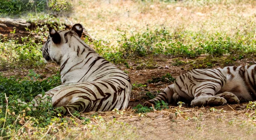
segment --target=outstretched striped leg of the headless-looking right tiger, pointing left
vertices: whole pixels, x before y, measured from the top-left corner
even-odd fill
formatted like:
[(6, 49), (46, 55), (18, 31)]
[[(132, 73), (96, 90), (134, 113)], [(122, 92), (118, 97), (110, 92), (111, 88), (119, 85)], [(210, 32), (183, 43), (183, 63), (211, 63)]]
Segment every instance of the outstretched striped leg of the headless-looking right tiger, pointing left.
[(143, 106), (151, 107), (154, 106), (155, 102), (163, 100), (165, 103), (173, 103), (179, 98), (179, 95), (176, 93), (175, 84), (168, 86), (160, 94), (157, 95), (154, 99), (146, 101)]

